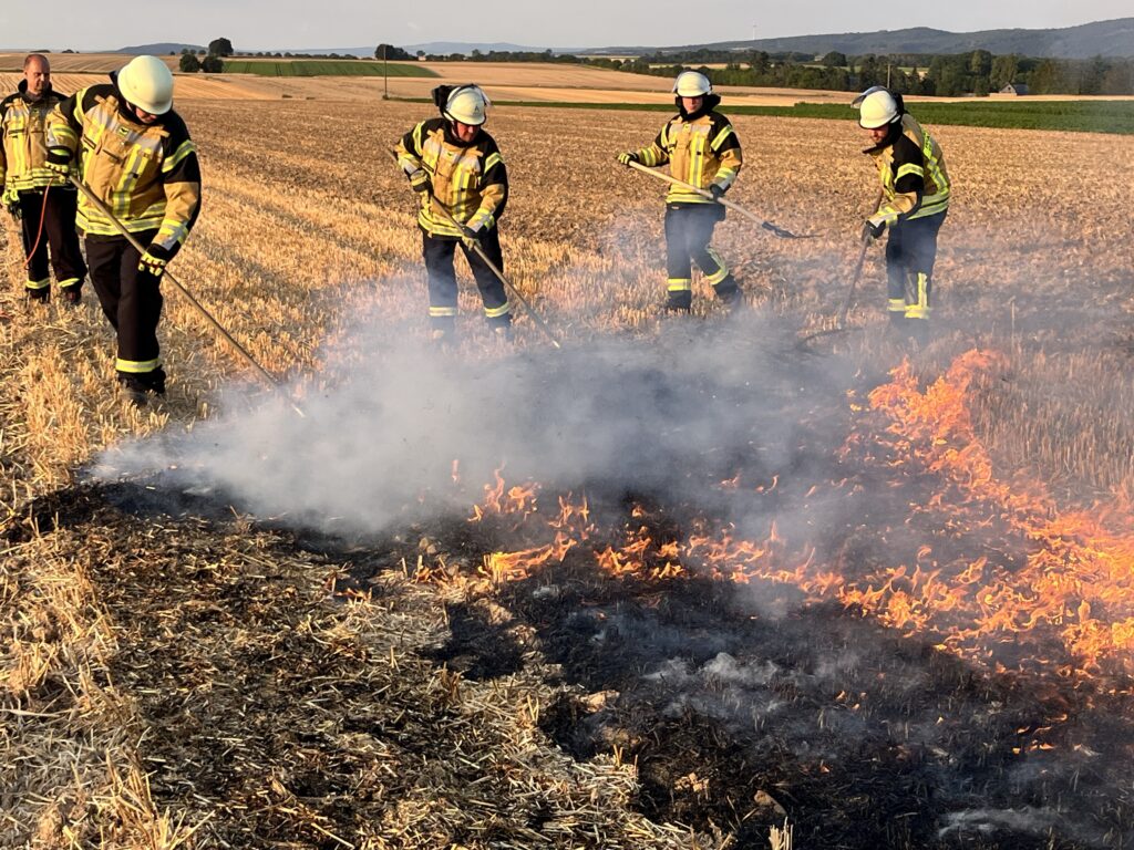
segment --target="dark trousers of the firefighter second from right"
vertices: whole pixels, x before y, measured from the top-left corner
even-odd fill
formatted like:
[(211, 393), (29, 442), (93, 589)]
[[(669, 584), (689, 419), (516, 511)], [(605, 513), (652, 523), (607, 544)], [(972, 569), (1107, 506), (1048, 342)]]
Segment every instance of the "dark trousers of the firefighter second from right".
[(669, 204), (666, 207), (666, 306), (688, 309), (693, 304), (693, 263), (697, 264), (725, 303), (739, 294), (720, 255), (712, 249), (713, 228), (725, 218), (720, 204)]

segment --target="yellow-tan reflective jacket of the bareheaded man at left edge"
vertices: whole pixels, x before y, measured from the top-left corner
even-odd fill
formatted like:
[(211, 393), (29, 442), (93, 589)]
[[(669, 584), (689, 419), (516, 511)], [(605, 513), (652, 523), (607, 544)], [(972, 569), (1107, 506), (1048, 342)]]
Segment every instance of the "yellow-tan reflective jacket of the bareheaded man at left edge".
[[(33, 192), (59, 178), (43, 167), (46, 161), (44, 129), (51, 110), (64, 95), (45, 86), (39, 100), (27, 96), (27, 80), (0, 102), (0, 186)], [(68, 187), (70, 188), (70, 187)]]

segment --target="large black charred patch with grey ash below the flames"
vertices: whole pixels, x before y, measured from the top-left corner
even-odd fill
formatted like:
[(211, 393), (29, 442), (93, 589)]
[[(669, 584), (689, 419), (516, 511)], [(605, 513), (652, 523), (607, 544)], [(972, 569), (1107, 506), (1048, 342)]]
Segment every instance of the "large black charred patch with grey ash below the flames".
[[(863, 850), (1132, 834), (1114, 794), (1134, 730), (1099, 695), (989, 674), (838, 606), (765, 619), (719, 584), (569, 561), (499, 601), (570, 686), (544, 731), (577, 759), (634, 762), (651, 819), (727, 825), (742, 847), (785, 817), (809, 845)], [(1038, 816), (995, 814), (1013, 810)]]

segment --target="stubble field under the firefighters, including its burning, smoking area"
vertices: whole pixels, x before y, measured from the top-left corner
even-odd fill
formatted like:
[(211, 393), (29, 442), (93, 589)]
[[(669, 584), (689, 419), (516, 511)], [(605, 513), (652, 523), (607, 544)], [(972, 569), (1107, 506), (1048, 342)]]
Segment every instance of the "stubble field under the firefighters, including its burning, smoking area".
[[(659, 316), (661, 116), (498, 108), (490, 339), (428, 341), (422, 104), (186, 101), (170, 380), (0, 295), (0, 845), (1134, 845), (1134, 139), (933, 128), (934, 334), (886, 332), (852, 121), (739, 118)], [(726, 110), (727, 111), (727, 110)], [(329, 131), (342, 127), (341, 133)]]

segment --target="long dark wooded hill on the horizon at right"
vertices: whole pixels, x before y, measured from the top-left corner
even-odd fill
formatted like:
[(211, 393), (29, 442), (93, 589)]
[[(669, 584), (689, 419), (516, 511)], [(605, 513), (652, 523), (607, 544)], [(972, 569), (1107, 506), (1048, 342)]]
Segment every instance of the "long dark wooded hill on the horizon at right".
[(763, 50), (769, 53), (797, 52), (822, 56), (838, 51), (847, 56), (868, 53), (966, 53), (987, 50), (990, 53), (1019, 53), (1051, 59), (1090, 59), (1134, 57), (1134, 18), (1098, 20), (1061, 29), (982, 29), (975, 33), (950, 33), (945, 29), (914, 27), (881, 29), (875, 33), (838, 33), (828, 35), (794, 35), (784, 39), (725, 41), (712, 44), (687, 44), (679, 48), (602, 48), (587, 53), (606, 56), (641, 56), (643, 53), (708, 50)]

